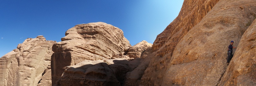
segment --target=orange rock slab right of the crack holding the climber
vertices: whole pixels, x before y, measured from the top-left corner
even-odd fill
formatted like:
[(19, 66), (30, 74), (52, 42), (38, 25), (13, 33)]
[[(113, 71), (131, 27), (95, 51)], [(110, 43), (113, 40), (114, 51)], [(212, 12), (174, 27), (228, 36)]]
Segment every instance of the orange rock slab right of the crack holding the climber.
[(256, 85), (256, 20), (243, 34), (235, 56), (224, 73), (220, 86), (255, 86)]

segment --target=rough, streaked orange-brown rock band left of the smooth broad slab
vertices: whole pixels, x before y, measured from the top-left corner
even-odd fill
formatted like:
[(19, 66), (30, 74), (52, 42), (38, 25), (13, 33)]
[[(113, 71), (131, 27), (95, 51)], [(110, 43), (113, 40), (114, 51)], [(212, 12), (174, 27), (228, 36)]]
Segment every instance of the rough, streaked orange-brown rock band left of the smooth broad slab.
[[(160, 33), (152, 45), (156, 55), (151, 59), (141, 78), (143, 85), (161, 85), (169, 68), (170, 59), (176, 45), (197, 25), (219, 0), (184, 0), (176, 19)], [(153, 70), (153, 71), (152, 71)]]

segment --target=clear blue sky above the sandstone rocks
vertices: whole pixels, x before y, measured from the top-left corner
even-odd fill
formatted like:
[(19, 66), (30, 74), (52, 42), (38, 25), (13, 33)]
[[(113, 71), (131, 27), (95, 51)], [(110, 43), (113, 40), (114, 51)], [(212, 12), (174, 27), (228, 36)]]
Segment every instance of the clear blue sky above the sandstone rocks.
[(183, 0), (0, 0), (0, 57), (27, 38), (60, 42), (77, 24), (120, 28), (133, 46), (158, 34), (178, 16)]

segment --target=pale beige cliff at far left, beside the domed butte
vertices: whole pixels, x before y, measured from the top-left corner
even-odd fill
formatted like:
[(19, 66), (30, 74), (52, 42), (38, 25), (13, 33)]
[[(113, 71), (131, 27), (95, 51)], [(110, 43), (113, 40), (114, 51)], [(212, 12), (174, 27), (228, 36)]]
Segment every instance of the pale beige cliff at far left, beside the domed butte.
[(0, 58), (0, 85), (51, 85), (51, 55), (54, 41), (43, 36), (27, 38), (17, 49)]

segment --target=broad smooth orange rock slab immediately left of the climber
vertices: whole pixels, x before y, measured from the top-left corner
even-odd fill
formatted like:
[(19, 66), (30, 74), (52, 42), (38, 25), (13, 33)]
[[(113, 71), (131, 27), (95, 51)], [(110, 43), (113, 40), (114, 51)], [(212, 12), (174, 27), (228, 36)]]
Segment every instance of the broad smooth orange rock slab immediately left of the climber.
[(255, 3), (221, 0), (215, 4), (176, 45), (161, 85), (218, 85), (227, 68), (228, 45), (233, 40), (237, 46), (255, 19)]

